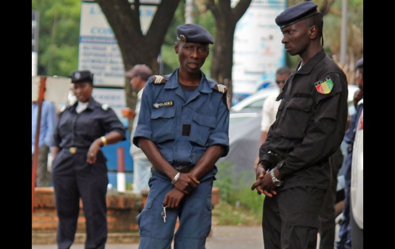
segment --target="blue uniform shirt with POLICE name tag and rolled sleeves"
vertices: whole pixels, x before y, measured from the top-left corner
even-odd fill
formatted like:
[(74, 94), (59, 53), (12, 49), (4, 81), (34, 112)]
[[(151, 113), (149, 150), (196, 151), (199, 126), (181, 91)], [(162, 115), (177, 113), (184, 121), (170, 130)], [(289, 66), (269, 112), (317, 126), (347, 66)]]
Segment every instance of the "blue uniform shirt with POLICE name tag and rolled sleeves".
[(229, 110), (223, 95), (213, 90), (215, 82), (202, 78), (188, 100), (179, 84), (178, 69), (166, 75), (166, 83), (148, 80), (142, 97), (140, 117), (133, 137), (152, 140), (172, 165), (194, 165), (208, 147), (221, 144), (223, 157), (229, 151)]

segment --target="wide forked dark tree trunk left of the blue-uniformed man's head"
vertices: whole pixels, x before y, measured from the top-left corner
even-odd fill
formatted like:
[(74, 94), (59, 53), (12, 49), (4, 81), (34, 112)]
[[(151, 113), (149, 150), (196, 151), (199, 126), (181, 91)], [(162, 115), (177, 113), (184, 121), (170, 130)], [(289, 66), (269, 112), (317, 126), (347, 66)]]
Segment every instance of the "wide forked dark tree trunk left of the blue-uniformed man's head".
[[(156, 9), (151, 25), (143, 35), (140, 24), (140, 0), (97, 0), (111, 26), (121, 51), (125, 71), (136, 64), (146, 64), (154, 74), (159, 73), (157, 57), (167, 29), (180, 0), (162, 1)], [(135, 106), (135, 96), (129, 82), (125, 82), (126, 105)], [(131, 123), (131, 122), (129, 122)], [(131, 124), (129, 124), (131, 127)]]

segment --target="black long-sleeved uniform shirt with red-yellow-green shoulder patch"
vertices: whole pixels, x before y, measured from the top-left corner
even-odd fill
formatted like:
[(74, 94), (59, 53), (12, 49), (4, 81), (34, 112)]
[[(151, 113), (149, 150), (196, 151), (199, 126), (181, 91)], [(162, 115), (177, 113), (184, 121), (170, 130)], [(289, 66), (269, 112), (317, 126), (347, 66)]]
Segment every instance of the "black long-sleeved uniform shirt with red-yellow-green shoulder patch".
[[(268, 168), (278, 166), (284, 180), (281, 189), (327, 188), (328, 158), (340, 146), (345, 133), (347, 79), (324, 49), (298, 71), (299, 67), (300, 63), (277, 98), (282, 102), (260, 148), (260, 162)], [(324, 88), (317, 88), (320, 83)], [(282, 157), (273, 156), (276, 154)]]

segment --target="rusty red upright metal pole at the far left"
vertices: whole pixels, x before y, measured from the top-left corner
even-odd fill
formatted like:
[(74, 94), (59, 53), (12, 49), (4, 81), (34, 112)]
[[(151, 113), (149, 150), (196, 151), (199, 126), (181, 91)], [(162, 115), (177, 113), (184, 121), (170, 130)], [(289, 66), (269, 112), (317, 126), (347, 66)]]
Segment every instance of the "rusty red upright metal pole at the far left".
[(34, 187), (36, 179), (37, 161), (38, 161), (38, 140), (40, 137), (40, 125), (41, 125), (41, 107), (43, 106), (44, 91), (45, 91), (45, 81), (47, 78), (45, 76), (40, 77), (40, 86), (38, 91), (38, 111), (37, 111), (37, 125), (36, 125), (36, 135), (34, 139), (34, 155), (33, 155), (33, 165), (31, 173), (31, 212), (33, 214), (34, 206)]

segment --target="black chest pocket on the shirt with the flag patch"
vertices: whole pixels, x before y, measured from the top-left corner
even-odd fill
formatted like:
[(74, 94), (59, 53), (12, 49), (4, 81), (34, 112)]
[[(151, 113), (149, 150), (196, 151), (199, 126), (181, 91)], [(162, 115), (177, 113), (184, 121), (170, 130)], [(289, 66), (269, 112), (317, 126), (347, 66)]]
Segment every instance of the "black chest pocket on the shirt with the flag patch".
[(290, 139), (304, 138), (312, 104), (313, 100), (310, 98), (292, 98), (281, 103), (280, 107), (284, 110), (279, 125), (282, 127), (283, 136)]

